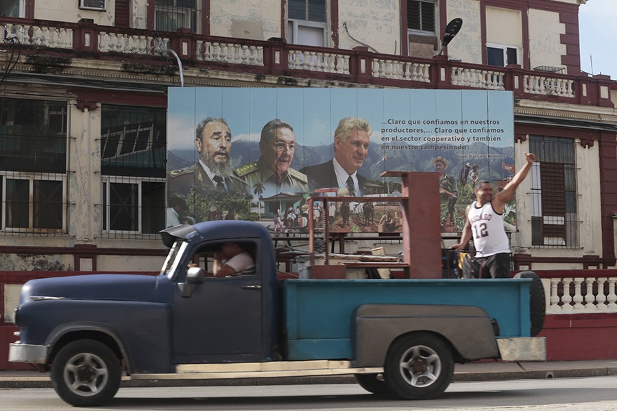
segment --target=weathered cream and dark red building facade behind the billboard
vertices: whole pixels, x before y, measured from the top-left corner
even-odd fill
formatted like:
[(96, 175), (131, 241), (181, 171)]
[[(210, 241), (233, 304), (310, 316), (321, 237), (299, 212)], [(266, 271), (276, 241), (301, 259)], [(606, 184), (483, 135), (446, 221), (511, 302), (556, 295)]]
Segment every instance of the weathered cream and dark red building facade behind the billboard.
[(515, 269), (614, 268), (617, 84), (581, 72), (584, 3), (5, 1), (0, 272), (160, 269), (170, 86), (510, 90), (516, 164), (538, 155)]

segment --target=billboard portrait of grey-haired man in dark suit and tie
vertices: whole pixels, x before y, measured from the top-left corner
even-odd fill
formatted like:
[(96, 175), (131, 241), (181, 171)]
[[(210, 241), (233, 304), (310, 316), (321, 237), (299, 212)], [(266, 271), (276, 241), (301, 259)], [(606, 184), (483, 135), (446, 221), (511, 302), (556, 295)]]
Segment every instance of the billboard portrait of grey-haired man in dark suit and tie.
[(309, 190), (317, 188), (347, 188), (349, 195), (364, 194), (368, 179), (358, 173), (368, 154), (369, 139), (373, 130), (365, 119), (345, 117), (335, 130), (332, 160), (304, 167), (300, 173), (309, 178)]

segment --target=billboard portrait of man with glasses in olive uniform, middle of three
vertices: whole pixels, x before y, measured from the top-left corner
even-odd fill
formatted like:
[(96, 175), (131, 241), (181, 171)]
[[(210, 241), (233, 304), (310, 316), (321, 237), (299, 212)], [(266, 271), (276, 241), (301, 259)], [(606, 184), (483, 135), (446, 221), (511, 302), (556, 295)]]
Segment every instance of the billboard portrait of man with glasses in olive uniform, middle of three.
[(261, 130), (261, 157), (256, 162), (238, 167), (235, 173), (244, 180), (250, 191), (256, 184), (263, 184), (264, 197), (279, 192), (308, 192), (306, 175), (290, 166), (295, 147), (293, 127), (279, 119), (269, 121)]

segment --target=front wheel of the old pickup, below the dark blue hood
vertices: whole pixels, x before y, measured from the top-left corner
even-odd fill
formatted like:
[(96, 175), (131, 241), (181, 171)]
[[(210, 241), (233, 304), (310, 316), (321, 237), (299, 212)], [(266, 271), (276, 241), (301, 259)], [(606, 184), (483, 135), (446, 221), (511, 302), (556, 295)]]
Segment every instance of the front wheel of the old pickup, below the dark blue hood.
[(53, 389), (71, 406), (104, 405), (117, 393), (120, 381), (120, 360), (95, 340), (73, 341), (60, 349), (51, 364)]

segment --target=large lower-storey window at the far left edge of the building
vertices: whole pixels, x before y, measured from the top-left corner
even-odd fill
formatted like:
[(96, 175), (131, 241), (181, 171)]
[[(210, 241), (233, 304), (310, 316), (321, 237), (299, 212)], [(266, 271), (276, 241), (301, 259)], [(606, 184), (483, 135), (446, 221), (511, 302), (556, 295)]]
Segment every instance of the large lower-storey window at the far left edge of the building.
[(66, 102), (5, 99), (0, 112), (0, 227), (66, 232)]

